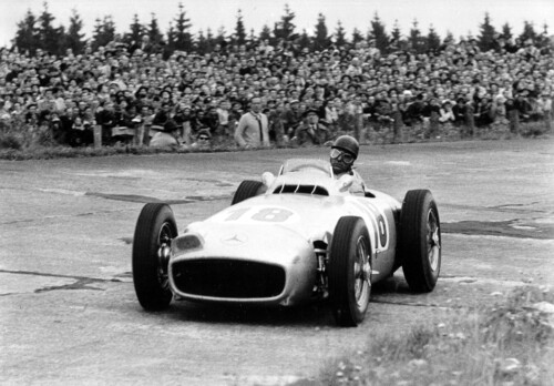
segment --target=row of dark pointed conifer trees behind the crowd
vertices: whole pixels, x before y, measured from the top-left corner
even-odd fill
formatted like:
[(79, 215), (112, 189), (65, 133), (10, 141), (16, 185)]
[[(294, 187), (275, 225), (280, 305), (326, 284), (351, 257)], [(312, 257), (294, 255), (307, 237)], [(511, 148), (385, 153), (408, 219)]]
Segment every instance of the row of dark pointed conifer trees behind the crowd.
[[(19, 52), (27, 52), (31, 55), (38, 49), (57, 55), (64, 54), (71, 49), (73, 53), (79, 54), (88, 45), (92, 50), (105, 47), (112, 41), (132, 45), (138, 43), (143, 35), (148, 35), (150, 42), (166, 55), (176, 50), (195, 51), (203, 54), (212, 52), (216, 45), (257, 44), (260, 41), (268, 41), (271, 45), (276, 45), (278, 42), (294, 43), (300, 50), (308, 48), (319, 51), (331, 45), (340, 48), (367, 41), (375, 43), (375, 47), (383, 53), (397, 50), (422, 53), (439, 50), (443, 44), (454, 41), (451, 32), (448, 32), (442, 38), (437, 33), (433, 26), (430, 26), (425, 32), (421, 31), (417, 20), (413, 20), (406, 35), (400, 30), (398, 20), (394, 21), (392, 30), (389, 32), (377, 12), (370, 20), (366, 33), (358, 28), (348, 33), (340, 21), (338, 21), (335, 30), (330, 31), (322, 13), (318, 14), (314, 30), (310, 33), (305, 29), (297, 31), (295, 17), (296, 14), (290, 7), (285, 4), (284, 14), (274, 23), (273, 28), (265, 24), (261, 31), (256, 33), (254, 29), (247, 31), (242, 11), (238, 10), (235, 28), (232, 32), (227, 32), (224, 27), (220, 27), (217, 31), (208, 28), (205, 31), (199, 30), (197, 33), (192, 33), (192, 21), (187, 18), (184, 6), (179, 3), (178, 10), (165, 32), (162, 31), (155, 13), (151, 13), (151, 20), (147, 23), (141, 22), (135, 13), (132, 23), (124, 32), (119, 32), (113, 18), (105, 16), (95, 20), (92, 37), (85, 39), (83, 19), (76, 10), (72, 10), (68, 27), (63, 24), (54, 26), (55, 17), (50, 12), (48, 2), (44, 2), (40, 14), (35, 16), (29, 9), (24, 18), (17, 23), (12, 47), (18, 49)], [(542, 26), (542, 31), (537, 32), (532, 22), (525, 21), (523, 32), (520, 35), (514, 35), (509, 23), (496, 30), (489, 13), (484, 14), (484, 20), (479, 26), (479, 34), (464, 38), (475, 39), (482, 51), (489, 51), (494, 49), (495, 41), (500, 37), (506, 40), (520, 39), (521, 41), (531, 39), (537, 47), (545, 47), (550, 42), (546, 24)]]

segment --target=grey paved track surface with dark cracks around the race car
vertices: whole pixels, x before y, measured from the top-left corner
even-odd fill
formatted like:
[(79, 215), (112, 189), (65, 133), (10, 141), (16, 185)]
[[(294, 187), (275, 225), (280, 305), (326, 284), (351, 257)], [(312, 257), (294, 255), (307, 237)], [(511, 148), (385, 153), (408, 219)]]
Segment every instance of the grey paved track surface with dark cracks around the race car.
[(229, 205), (240, 181), (327, 149), (0, 162), (0, 384), (285, 385), (389, 332), (554, 283), (554, 141), (362, 146), (368, 185), (402, 200), (430, 189), (442, 222), (434, 292), (401, 271), (366, 321), (338, 328), (327, 305), (242, 309), (173, 303), (146, 313), (131, 277), (145, 202), (179, 230)]

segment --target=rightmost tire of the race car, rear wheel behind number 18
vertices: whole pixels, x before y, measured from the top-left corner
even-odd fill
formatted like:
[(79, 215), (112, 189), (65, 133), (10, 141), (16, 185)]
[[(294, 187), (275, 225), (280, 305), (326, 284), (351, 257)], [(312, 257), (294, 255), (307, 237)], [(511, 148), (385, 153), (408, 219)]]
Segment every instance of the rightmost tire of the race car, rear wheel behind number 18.
[(433, 291), (441, 270), (442, 244), (439, 211), (430, 191), (406, 193), (398, 251), (410, 290)]

